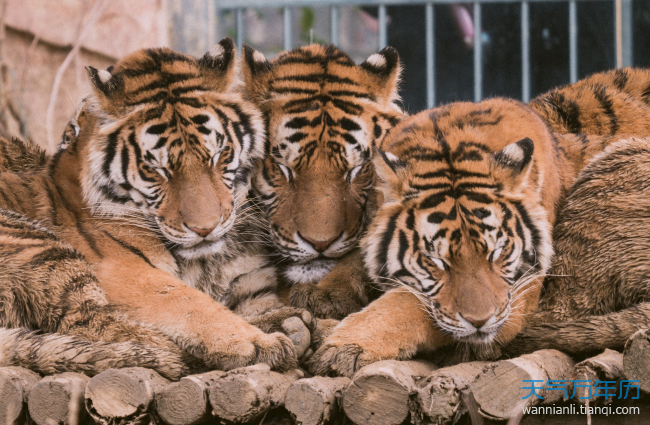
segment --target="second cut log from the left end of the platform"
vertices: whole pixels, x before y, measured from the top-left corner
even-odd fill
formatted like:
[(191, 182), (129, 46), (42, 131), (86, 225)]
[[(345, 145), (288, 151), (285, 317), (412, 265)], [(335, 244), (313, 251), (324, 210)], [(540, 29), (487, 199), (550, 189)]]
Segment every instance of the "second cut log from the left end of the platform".
[(66, 372), (46, 376), (29, 393), (29, 415), (38, 425), (80, 424), (88, 419), (84, 405), (90, 378)]

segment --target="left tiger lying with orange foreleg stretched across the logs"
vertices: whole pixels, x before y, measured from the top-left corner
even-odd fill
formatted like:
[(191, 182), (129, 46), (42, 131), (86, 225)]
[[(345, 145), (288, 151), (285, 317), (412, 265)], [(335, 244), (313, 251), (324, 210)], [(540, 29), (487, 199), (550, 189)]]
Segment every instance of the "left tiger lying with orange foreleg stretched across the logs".
[[(200, 59), (158, 48), (87, 67), (93, 92), (50, 163), (0, 174), (0, 252), (12, 260), (0, 269), (0, 364), (129, 364), (175, 378), (197, 361), (297, 365), (287, 336), (244, 318), (282, 304), (248, 196), (264, 123), (235, 63), (225, 38)], [(52, 268), (68, 257), (69, 272)], [(16, 280), (31, 267), (33, 286)]]

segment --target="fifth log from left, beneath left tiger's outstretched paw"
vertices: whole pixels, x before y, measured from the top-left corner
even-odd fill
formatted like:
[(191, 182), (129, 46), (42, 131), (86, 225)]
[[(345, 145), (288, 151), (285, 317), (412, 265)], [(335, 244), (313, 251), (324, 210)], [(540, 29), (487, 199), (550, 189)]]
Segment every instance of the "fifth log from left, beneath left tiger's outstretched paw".
[(300, 369), (282, 374), (265, 364), (233, 369), (210, 385), (210, 405), (221, 419), (250, 422), (283, 406), (287, 390), (303, 376)]

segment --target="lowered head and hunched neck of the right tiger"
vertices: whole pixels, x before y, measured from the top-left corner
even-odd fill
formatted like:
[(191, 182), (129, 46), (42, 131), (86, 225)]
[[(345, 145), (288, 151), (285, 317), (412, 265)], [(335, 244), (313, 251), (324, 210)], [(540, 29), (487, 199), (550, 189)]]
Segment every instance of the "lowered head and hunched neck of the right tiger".
[(546, 124), (512, 100), (454, 103), (402, 121), (381, 149), (371, 276), (413, 292), (456, 340), (514, 337), (552, 254), (561, 179)]

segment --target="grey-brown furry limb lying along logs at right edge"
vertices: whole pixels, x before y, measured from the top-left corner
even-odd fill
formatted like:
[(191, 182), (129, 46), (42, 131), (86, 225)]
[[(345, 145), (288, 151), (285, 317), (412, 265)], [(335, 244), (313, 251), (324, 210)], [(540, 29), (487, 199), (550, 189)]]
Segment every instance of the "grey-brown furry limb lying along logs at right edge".
[(544, 348), (573, 355), (594, 354), (605, 348), (621, 350), (634, 332), (647, 328), (650, 328), (650, 303), (644, 302), (603, 316), (524, 328), (504, 351), (518, 356)]

